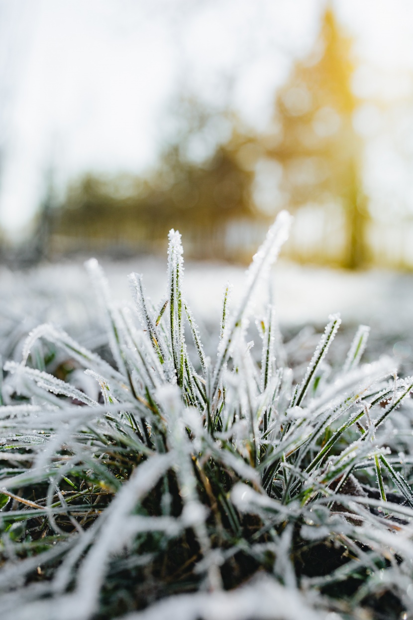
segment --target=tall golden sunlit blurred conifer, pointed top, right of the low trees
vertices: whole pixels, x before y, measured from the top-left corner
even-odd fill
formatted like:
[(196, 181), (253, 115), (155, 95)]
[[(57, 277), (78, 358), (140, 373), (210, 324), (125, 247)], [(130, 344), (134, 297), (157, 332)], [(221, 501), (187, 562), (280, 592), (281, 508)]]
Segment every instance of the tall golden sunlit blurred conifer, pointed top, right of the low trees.
[(295, 64), (277, 93), (274, 131), (261, 138), (261, 152), (282, 166), (280, 190), (288, 208), (341, 203), (346, 221), (344, 264), (365, 261), (365, 197), (362, 141), (352, 118), (357, 99), (350, 81), (350, 40), (328, 9), (310, 55)]

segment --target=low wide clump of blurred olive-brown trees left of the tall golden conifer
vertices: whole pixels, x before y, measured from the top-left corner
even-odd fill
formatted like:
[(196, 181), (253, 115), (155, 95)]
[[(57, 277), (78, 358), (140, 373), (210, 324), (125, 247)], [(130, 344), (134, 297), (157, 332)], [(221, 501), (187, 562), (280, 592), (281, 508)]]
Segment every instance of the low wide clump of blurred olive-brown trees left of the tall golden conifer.
[(243, 170), (227, 146), (194, 162), (183, 155), (185, 144), (170, 146), (147, 177), (86, 175), (72, 183), (64, 204), (53, 210), (52, 237), (72, 249), (89, 249), (92, 242), (116, 252), (154, 251), (170, 228), (178, 228), (189, 254), (228, 258), (226, 225), (253, 216), (253, 172)]

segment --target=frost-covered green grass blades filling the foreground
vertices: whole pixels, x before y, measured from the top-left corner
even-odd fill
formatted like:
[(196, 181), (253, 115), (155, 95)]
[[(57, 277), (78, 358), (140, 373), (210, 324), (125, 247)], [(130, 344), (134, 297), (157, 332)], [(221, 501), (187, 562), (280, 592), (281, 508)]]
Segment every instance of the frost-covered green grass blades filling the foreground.
[(361, 363), (363, 325), (331, 368), (338, 315), (308, 367), (289, 368), (300, 339), (284, 348), (271, 291), (257, 357), (246, 342), (289, 223), (281, 213), (270, 229), (239, 303), (225, 289), (213, 359), (171, 231), (157, 306), (136, 273), (133, 303), (114, 303), (87, 263), (102, 356), (43, 324), (6, 361), (1, 618), (413, 614), (413, 379), (390, 358)]

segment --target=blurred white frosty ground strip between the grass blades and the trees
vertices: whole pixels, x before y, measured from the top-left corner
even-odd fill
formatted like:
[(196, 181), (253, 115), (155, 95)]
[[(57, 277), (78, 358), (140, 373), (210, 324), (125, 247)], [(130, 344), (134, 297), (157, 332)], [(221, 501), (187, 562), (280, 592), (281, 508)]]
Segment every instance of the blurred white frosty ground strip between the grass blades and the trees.
[[(129, 299), (127, 275), (144, 275), (147, 293), (155, 303), (165, 294), (166, 258), (137, 257), (134, 260), (102, 260), (113, 297)], [(184, 290), (196, 319), (202, 325), (217, 325), (225, 284), (233, 284), (234, 301), (240, 296), (245, 268), (222, 263), (188, 262)], [(274, 296), (282, 329), (295, 332), (305, 324), (321, 327), (331, 312), (341, 312), (343, 326), (365, 323), (372, 327), (371, 345), (381, 342), (406, 363), (413, 350), (413, 275), (371, 270), (346, 272), (328, 268), (302, 267), (279, 262), (274, 268)], [(25, 272), (0, 270), (1, 312), (4, 321), (16, 323), (18, 337), (39, 322), (51, 321), (85, 334), (93, 340), (96, 325), (95, 298), (82, 260), (44, 264)], [(265, 302), (261, 291), (256, 309)], [(4, 324), (3, 321), (3, 324)], [(4, 325), (2, 328), (4, 332)], [(3, 351), (3, 355), (7, 352)]]

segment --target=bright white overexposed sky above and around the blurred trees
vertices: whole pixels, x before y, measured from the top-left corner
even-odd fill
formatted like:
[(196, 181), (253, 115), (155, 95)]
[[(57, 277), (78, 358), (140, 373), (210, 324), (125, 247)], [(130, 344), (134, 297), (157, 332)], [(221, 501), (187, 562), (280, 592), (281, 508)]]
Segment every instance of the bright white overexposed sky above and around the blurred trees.
[[(311, 47), (323, 6), (323, 0), (0, 0), (0, 226), (14, 236), (24, 229), (51, 165), (63, 187), (83, 170), (139, 172), (154, 164), (171, 102), (183, 87), (265, 126), (274, 90), (294, 56)], [(412, 163), (401, 162), (399, 153), (407, 149), (413, 157), (413, 123), (405, 121), (394, 135), (380, 131), (389, 120), (400, 125), (401, 112), (409, 117), (400, 100), (411, 96), (413, 2), (334, 6), (355, 37), (355, 89), (391, 104), (385, 112), (371, 102), (360, 110), (370, 145), (367, 187), (374, 194), (380, 170), (389, 192), (399, 184), (398, 200), (407, 196), (413, 212)]]

